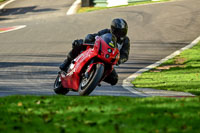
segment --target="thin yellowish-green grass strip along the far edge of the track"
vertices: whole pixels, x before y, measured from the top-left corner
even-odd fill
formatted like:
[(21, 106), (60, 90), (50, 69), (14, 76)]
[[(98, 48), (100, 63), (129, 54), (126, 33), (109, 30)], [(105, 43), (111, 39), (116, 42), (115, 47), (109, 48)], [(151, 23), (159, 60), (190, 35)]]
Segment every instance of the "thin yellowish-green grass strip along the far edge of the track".
[(171, 0), (159, 0), (159, 1), (143, 1), (143, 2), (134, 2), (129, 3), (128, 5), (122, 5), (122, 6), (115, 6), (115, 7), (82, 7), (78, 10), (78, 13), (84, 13), (84, 12), (92, 12), (96, 10), (104, 10), (104, 9), (110, 9), (110, 8), (116, 8), (116, 7), (126, 7), (126, 6), (135, 6), (135, 5), (142, 5), (142, 4), (150, 4), (150, 3), (157, 3), (157, 2), (167, 2)]

